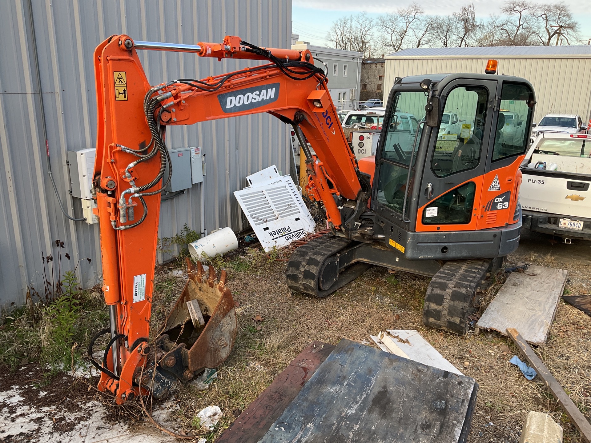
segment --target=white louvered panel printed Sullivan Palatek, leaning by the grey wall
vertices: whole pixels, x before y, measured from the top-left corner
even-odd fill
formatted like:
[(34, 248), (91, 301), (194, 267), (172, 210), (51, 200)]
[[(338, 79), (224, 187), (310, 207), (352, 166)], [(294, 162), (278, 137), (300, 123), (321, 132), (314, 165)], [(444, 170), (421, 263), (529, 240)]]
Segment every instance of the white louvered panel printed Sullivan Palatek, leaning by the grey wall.
[(234, 195), (267, 252), (314, 232), (310, 211), (288, 175), (269, 177)]

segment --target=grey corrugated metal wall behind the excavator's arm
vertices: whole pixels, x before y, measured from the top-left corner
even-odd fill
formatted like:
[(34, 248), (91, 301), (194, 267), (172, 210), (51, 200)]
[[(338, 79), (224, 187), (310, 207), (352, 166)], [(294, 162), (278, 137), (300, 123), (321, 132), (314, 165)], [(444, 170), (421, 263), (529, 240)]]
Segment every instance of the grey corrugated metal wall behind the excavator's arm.
[[(32, 14), (30, 11), (32, 10)], [(33, 29), (41, 84), (37, 82)], [(100, 280), (98, 224), (71, 222), (61, 213), (48, 178), (40, 90), (54, 178), (70, 215), (66, 151), (95, 147), (96, 99), (92, 53), (112, 34), (136, 40), (196, 44), (239, 35), (251, 43), (289, 48), (291, 0), (5, 0), (0, 2), (0, 305), (24, 300), (43, 279), (42, 252), (65, 242), (72, 260), (89, 257), (78, 272), (86, 286)], [(193, 54), (138, 51), (152, 84), (179, 77), (202, 79), (248, 66), (246, 61)], [(251, 62), (252, 65), (256, 62)], [(170, 128), (169, 128), (170, 129)], [(271, 164), (288, 173), (284, 123), (264, 114), (204, 122), (167, 131), (169, 148), (202, 146), (206, 154), (206, 228), (241, 229), (233, 191)], [(198, 186), (163, 203), (160, 237), (184, 224), (199, 232)], [(163, 258), (160, 255), (160, 258)], [(166, 258), (166, 257), (164, 257)]]

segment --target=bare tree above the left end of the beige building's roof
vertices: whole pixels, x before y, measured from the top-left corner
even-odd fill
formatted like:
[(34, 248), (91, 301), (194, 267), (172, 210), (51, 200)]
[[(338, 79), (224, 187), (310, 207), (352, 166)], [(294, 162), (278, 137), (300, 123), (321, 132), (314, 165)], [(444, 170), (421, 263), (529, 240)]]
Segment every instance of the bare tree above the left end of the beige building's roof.
[(413, 25), (420, 22), (423, 8), (416, 3), (408, 8), (398, 9), (390, 14), (382, 14), (378, 17), (378, 30), (381, 35), (382, 47), (391, 51), (400, 51), (405, 47), (407, 38), (412, 34)]

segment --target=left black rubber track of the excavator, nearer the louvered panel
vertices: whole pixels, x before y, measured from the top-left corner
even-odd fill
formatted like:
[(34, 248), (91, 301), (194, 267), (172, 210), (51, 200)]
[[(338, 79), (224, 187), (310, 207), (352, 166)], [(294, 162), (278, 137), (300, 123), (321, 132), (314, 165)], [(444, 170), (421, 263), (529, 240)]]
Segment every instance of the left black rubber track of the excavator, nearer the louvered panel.
[(323, 291), (319, 288), (319, 275), (324, 260), (345, 249), (350, 243), (351, 240), (342, 237), (324, 235), (298, 247), (287, 262), (285, 270), (287, 286), (293, 291), (304, 292), (304, 294), (316, 297), (326, 297), (356, 279), (371, 268), (371, 265), (353, 263), (345, 271), (339, 273), (339, 278), (329, 289)]

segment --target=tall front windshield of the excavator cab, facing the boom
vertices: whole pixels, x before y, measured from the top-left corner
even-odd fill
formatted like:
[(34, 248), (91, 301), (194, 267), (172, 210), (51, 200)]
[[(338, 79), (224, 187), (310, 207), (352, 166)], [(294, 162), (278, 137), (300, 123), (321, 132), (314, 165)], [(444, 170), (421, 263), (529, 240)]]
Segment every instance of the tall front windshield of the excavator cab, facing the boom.
[[(414, 170), (411, 170), (408, 178), (408, 168), (412, 167), (417, 159), (417, 149), (422, 136), (422, 133), (417, 135), (421, 128), (418, 126), (418, 120), (423, 118), (426, 104), (427, 96), (423, 91), (396, 93), (394, 105), (385, 120), (385, 128), (382, 129), (385, 142), (380, 159), (377, 200), (399, 213), (402, 212), (405, 193), (413, 187)], [(415, 146), (411, 165), (413, 145)]]

